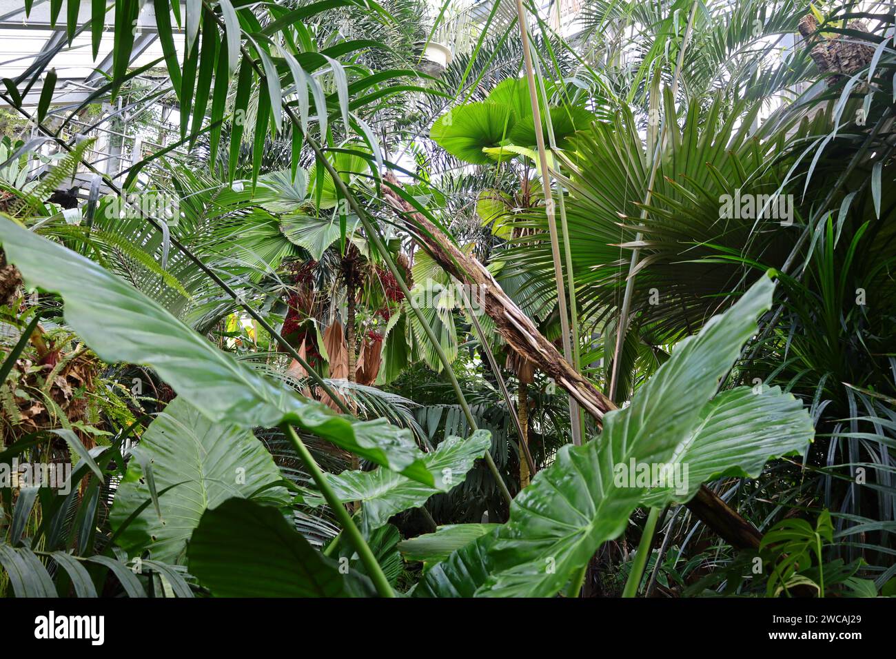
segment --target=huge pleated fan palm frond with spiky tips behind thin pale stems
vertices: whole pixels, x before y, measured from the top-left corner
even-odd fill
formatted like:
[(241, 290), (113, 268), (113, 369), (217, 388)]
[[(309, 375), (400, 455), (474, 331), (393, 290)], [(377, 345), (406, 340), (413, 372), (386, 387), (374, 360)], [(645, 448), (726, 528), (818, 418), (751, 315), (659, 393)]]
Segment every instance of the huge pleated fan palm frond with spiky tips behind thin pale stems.
[[(771, 212), (759, 221), (720, 213), (724, 195), (734, 197), (738, 190), (740, 195), (774, 195), (778, 190), (787, 172), (780, 158), (784, 129), (760, 128), (751, 135), (758, 106), (742, 107), (741, 113), (724, 120), (722, 108), (723, 101), (716, 100), (704, 115), (695, 102), (687, 109), (684, 127), (669, 125), (643, 226), (650, 155), (633, 114), (622, 110), (612, 123), (594, 124), (573, 138), (572, 174), (564, 178), (569, 190), (565, 212), (576, 294), (587, 329), (616, 316), (633, 247), (641, 248), (642, 257), (632, 308), (640, 324), (662, 323), (665, 338), (658, 343), (693, 333), (724, 306), (719, 296), (742, 290), (757, 276), (742, 265), (704, 257), (728, 247), (738, 253), (748, 250), (773, 266), (787, 255), (787, 229)], [(552, 295), (545, 222), (543, 207), (521, 213), (516, 223), (531, 232), (495, 255), (504, 262), (502, 276), (525, 280), (517, 293), (524, 304)], [(635, 242), (639, 230), (643, 238)]]

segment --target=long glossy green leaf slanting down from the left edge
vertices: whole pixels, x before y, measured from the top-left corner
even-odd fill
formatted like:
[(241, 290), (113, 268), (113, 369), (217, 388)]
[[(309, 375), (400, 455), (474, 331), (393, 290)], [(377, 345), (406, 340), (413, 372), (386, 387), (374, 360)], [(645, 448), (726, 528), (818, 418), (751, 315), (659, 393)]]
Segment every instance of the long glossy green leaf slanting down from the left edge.
[(336, 414), (275, 385), (99, 264), (12, 220), (0, 219), (0, 239), (30, 285), (62, 295), (66, 322), (101, 359), (151, 366), (211, 421), (243, 428), (287, 421), (410, 479), (435, 483), (409, 430)]

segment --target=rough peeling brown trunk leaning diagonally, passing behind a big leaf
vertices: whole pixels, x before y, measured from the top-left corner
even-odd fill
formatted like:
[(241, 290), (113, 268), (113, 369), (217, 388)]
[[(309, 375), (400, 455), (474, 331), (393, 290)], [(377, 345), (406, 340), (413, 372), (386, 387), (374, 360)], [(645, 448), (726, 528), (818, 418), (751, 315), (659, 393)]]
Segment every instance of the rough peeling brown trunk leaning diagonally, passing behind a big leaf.
[[(383, 178), (392, 186), (400, 186), (392, 174), (387, 174)], [(464, 254), (442, 230), (421, 213), (416, 212), (388, 185), (383, 186), (383, 200), (392, 207), (415, 239), (428, 249), (447, 273), (464, 284), (478, 287), (478, 299), (484, 300), (486, 313), (495, 321), (497, 331), (513, 351), (554, 378), (556, 384), (573, 395), (598, 424), (606, 412), (616, 409), (616, 405), (607, 396), (601, 394), (589, 380), (579, 375), (569, 362), (564, 360), (554, 344), (538, 332), (529, 316), (526, 316), (513, 299), (504, 293), (483, 264), (476, 258)], [(687, 503), (687, 507), (733, 547), (758, 548), (762, 533), (705, 486), (702, 486), (694, 499)]]

